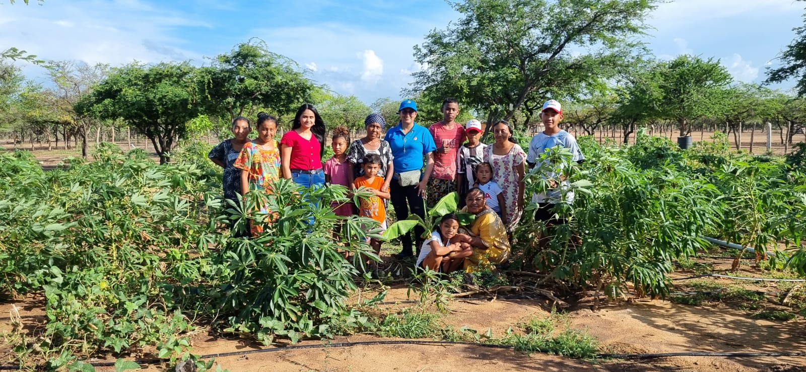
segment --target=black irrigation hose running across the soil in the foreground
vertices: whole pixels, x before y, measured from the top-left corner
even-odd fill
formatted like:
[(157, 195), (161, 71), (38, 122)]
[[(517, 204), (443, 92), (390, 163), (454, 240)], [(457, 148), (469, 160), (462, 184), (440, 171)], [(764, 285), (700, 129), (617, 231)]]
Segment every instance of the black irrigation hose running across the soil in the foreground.
[[(274, 347), (268, 349), (253, 349), (232, 351), (229, 353), (213, 353), (201, 355), (199, 359), (210, 358), (223, 358), (232, 357), (237, 355), (247, 355), (252, 353), (272, 353), (275, 351), (288, 351), (294, 349), (323, 349), (323, 348), (341, 348), (359, 345), (468, 345), (468, 346), (481, 346), (494, 349), (515, 349), (513, 345), (499, 345), (499, 344), (484, 344), (480, 342), (468, 341), (414, 341), (414, 340), (383, 340), (383, 341), (355, 341), (355, 342), (339, 342), (335, 344), (322, 344), (322, 345), (291, 345), (283, 347)], [(532, 350), (546, 353), (546, 350)], [(681, 353), (640, 353), (640, 354), (616, 354), (616, 353), (598, 353), (596, 358), (612, 358), (612, 359), (650, 359), (650, 358), (667, 358), (667, 357), (728, 357), (728, 358), (748, 358), (748, 357), (802, 357), (806, 353), (719, 353), (719, 352), (702, 352), (702, 351), (687, 351)], [(155, 364), (160, 362), (169, 362), (169, 359), (150, 358), (150, 359), (135, 359), (133, 362), (143, 364)], [(115, 362), (92, 362), (89, 363), (95, 367), (114, 366)], [(19, 366), (0, 366), (0, 370), (20, 370)]]

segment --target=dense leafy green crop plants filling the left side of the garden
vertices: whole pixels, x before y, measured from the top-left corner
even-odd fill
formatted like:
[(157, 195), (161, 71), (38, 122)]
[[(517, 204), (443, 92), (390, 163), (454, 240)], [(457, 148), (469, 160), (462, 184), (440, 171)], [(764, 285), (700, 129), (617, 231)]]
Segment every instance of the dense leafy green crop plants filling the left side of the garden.
[[(143, 151), (102, 144), (95, 162), (69, 159), (52, 172), (27, 151), (0, 154), (0, 291), (46, 300), (46, 324), (17, 339), (19, 362), (83, 370), (77, 356), (147, 347), (181, 361), (193, 358), (195, 322), (215, 316), (264, 342), (366, 324), (344, 299), (356, 267), (378, 259), (366, 241), (380, 235), (372, 219), (334, 215), (330, 201), (349, 201), (347, 190), (281, 180), (276, 198), (247, 194), (243, 205), (268, 201), (267, 221), (223, 203), (218, 169), (199, 152), (190, 146), (157, 165)], [(227, 220), (264, 224), (264, 234), (231, 238), (219, 230)]]

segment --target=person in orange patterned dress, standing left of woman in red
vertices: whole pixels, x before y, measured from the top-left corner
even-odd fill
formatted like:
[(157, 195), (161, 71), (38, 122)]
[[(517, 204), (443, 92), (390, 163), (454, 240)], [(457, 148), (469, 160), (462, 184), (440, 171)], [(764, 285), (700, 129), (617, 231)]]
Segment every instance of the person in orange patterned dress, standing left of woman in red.
[[(272, 193), (272, 184), (280, 178), (280, 150), (274, 134), (277, 119), (261, 112), (257, 114), (258, 137), (243, 145), (241, 154), (235, 160), (235, 167), (241, 170), (241, 194), (250, 190)], [(255, 205), (260, 214), (269, 214), (268, 205)], [(246, 211), (245, 211), (246, 212)], [(251, 234), (256, 237), (263, 233), (263, 225), (251, 223)]]

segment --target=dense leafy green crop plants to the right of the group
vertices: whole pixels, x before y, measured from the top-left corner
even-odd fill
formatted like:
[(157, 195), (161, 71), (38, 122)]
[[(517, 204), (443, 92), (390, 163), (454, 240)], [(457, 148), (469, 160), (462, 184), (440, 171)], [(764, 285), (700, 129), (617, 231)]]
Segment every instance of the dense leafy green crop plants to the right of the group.
[[(562, 173), (571, 185), (586, 180), (575, 202), (555, 205), (566, 221), (550, 229), (531, 223), (530, 210), (518, 242), (548, 237), (548, 248), (527, 244), (526, 257), (552, 278), (619, 296), (628, 282), (638, 294), (669, 292), (671, 261), (708, 247), (701, 235), (716, 236), (758, 251), (779, 251), (787, 242), (787, 265), (806, 269), (800, 244), (806, 208), (802, 176), (787, 173), (778, 161), (725, 155), (721, 147), (682, 152), (666, 139), (638, 135), (633, 147), (600, 147), (586, 138), (588, 157), (580, 168), (567, 151), (543, 155), (526, 176), (527, 192), (545, 192), (549, 174)], [(717, 145), (721, 146), (721, 145)], [(708, 155), (706, 157), (705, 155)], [(706, 160), (707, 159), (707, 160)], [(517, 246), (516, 246), (517, 248)]]

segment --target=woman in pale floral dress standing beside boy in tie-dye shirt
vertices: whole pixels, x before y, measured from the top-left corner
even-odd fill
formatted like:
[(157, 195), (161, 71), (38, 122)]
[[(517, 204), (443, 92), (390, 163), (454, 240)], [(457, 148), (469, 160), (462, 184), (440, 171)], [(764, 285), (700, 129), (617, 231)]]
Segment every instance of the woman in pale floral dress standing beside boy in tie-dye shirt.
[(492, 164), (492, 178), (496, 180), (504, 195), (506, 216), (504, 223), (507, 232), (512, 231), (521, 221), (523, 211), (523, 176), (526, 174), (526, 152), (512, 138), (509, 122), (501, 120), (492, 126), (496, 142), (484, 147), (484, 161)]

